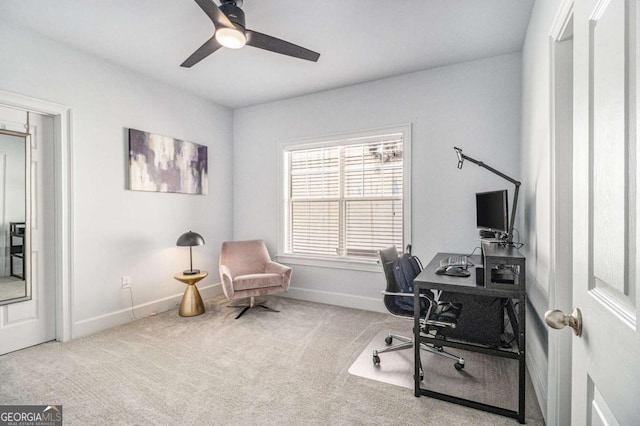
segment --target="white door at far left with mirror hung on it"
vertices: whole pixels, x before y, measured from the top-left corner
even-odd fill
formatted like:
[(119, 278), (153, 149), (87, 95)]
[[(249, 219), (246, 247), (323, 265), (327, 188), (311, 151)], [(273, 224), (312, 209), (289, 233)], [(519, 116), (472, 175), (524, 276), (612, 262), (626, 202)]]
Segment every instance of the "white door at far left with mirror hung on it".
[(32, 298), (0, 306), (0, 354), (56, 338), (53, 125), (51, 117), (30, 114), (31, 136), (26, 140), (31, 145), (31, 169), (26, 181), (31, 191), (25, 232), (30, 259), (25, 275)]

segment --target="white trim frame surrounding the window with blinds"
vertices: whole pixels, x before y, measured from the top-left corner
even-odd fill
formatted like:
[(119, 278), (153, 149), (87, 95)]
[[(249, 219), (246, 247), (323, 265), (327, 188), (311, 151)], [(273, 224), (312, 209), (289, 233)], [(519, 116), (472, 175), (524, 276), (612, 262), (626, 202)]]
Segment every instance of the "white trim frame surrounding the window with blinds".
[[(278, 143), (278, 254), (280, 262), (294, 265), (317, 266), (324, 268), (350, 269), (379, 272), (377, 259), (355, 257), (333, 257), (310, 254), (285, 253), (287, 220), (287, 185), (288, 170), (285, 168), (285, 156), (288, 151), (296, 149), (323, 148), (336, 145), (361, 144), (363, 139), (389, 133), (402, 134), (402, 226), (403, 245), (411, 241), (411, 125), (401, 124), (367, 130), (356, 130), (334, 133), (316, 137), (282, 140)], [(402, 249), (402, 247), (398, 247)]]

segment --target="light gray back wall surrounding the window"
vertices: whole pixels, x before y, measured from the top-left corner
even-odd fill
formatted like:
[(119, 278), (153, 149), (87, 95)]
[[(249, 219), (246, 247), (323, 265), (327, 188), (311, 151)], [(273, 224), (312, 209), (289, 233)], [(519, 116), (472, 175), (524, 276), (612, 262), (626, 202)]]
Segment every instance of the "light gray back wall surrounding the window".
[[(520, 175), (520, 54), (499, 56), (234, 111), (234, 238), (278, 241), (278, 142), (410, 123), (414, 253), (478, 246), (475, 192), (510, 190), (453, 146)], [(296, 265), (293, 297), (383, 310), (380, 272)]]

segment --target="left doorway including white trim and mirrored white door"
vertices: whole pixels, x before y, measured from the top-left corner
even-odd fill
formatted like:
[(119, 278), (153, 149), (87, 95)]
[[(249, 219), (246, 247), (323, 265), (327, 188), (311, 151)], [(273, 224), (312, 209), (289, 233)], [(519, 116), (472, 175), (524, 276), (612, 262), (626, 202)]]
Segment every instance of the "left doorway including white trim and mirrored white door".
[(68, 108), (0, 92), (0, 136), (23, 153), (0, 181), (0, 269), (20, 292), (0, 300), (0, 355), (72, 337), (68, 122)]

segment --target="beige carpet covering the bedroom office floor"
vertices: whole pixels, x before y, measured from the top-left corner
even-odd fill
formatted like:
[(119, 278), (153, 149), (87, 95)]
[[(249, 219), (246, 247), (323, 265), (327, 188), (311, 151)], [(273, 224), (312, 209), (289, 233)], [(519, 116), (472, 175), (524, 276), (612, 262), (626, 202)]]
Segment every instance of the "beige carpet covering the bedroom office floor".
[[(348, 373), (390, 315), (272, 298), (280, 313), (177, 310), (0, 357), (0, 404), (61, 404), (65, 425), (515, 425)], [(529, 424), (540, 423), (539, 421)]]

